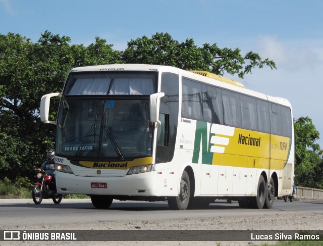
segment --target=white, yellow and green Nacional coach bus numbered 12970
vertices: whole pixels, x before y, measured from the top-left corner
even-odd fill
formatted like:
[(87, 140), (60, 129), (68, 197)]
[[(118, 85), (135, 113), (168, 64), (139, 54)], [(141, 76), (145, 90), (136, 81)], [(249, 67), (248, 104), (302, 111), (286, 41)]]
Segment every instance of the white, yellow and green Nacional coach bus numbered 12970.
[[(61, 97), (55, 122), (52, 96)], [(234, 80), (157, 65), (79, 67), (40, 109), (41, 121), (57, 125), (58, 192), (88, 194), (96, 208), (230, 199), (261, 209), (292, 193), (290, 103)]]

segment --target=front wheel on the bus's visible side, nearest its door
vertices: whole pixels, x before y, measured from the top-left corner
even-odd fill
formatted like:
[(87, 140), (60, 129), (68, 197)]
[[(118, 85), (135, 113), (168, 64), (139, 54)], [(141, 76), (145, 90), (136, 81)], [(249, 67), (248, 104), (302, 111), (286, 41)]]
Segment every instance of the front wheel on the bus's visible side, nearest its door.
[(173, 210), (185, 210), (188, 207), (191, 198), (191, 185), (188, 173), (184, 170), (181, 178), (181, 187), (179, 196), (170, 196), (167, 199), (168, 205)]

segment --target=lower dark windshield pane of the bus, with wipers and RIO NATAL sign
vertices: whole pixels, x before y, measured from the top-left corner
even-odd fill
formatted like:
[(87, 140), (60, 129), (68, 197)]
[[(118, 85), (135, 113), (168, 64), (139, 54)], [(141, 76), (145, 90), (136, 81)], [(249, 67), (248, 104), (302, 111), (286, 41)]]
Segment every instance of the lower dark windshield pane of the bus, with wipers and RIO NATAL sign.
[(61, 156), (124, 160), (151, 155), (148, 99), (66, 99), (57, 129)]

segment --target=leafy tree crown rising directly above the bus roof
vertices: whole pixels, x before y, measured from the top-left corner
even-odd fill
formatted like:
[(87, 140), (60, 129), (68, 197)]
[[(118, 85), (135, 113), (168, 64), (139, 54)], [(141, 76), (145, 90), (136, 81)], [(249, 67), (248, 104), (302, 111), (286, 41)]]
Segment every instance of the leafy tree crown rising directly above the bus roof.
[[(256, 53), (244, 57), (239, 48), (219, 48), (216, 43), (195, 45), (193, 39), (185, 42), (174, 40), (168, 33), (156, 33), (151, 38), (143, 36), (128, 42), (122, 55), (125, 63), (158, 64), (179, 67), (185, 70), (204, 70), (218, 75), (225, 72), (240, 78), (255, 67), (276, 68), (272, 60), (262, 60)], [(247, 65), (246, 63), (249, 62)]]

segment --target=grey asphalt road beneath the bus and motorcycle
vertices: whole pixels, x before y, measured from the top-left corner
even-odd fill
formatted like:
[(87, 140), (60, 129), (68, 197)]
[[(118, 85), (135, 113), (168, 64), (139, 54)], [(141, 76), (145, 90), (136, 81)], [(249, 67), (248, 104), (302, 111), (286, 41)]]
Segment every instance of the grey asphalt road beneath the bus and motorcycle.
[(323, 215), (323, 202), (296, 201), (293, 203), (275, 201), (272, 209), (240, 209), (237, 202), (228, 204), (219, 200), (205, 210), (172, 211), (167, 202), (120, 202), (114, 201), (110, 209), (95, 209), (89, 199), (63, 199), (59, 205), (51, 200), (43, 200), (35, 205), (31, 199), (0, 199), (0, 229), (28, 229), (32, 225), (94, 223), (97, 221), (123, 220), (174, 220), (209, 218), (210, 216), (259, 215), (276, 216), (279, 214), (301, 215), (314, 213)]

